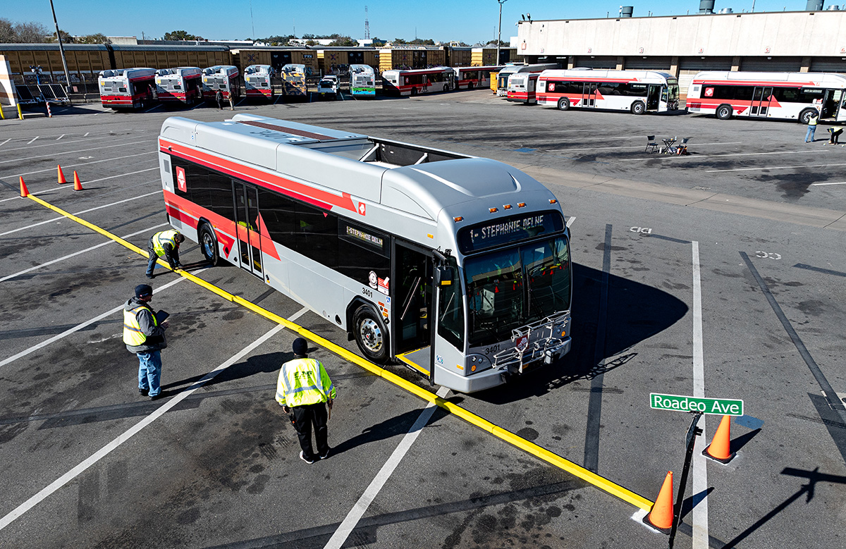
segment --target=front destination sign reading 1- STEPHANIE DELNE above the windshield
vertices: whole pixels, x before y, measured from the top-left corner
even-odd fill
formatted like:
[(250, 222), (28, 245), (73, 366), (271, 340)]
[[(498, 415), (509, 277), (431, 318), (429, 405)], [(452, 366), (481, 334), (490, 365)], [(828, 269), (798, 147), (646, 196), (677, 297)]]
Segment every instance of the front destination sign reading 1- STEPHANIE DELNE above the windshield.
[(459, 249), (463, 254), (486, 250), (535, 238), (539, 234), (563, 230), (564, 220), (558, 211), (540, 211), (522, 216), (502, 217), (480, 223), (459, 232)]

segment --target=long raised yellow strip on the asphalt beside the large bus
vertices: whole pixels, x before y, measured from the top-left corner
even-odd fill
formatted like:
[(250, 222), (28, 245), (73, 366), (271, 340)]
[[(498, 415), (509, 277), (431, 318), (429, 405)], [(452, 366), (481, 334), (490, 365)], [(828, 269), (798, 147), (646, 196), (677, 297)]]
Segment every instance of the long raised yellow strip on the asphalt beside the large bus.
[[(37, 196), (28, 195), (28, 198), (30, 198), (31, 200), (35, 200), (38, 204), (41, 204), (41, 206), (49, 208), (52, 211), (56, 211), (57, 213), (63, 215), (64, 217), (67, 217), (67, 218), (69, 218), (69, 219), (71, 219), (75, 222), (80, 223), (80, 225), (84, 225), (85, 227), (90, 228), (92, 231), (95, 231), (96, 233), (102, 234), (103, 236), (107, 237), (108, 239), (114, 240), (118, 244), (124, 245), (126, 248), (134, 251), (136, 254), (143, 255), (144, 257), (149, 257), (146, 250), (141, 250), (135, 244), (130, 244), (126, 240), (118, 237), (117, 235), (115, 235), (113, 233), (109, 233), (104, 228), (97, 227), (96, 225), (85, 221), (85, 219), (81, 219), (80, 217), (76, 217), (73, 214), (62, 210), (61, 208), (58, 208), (56, 206), (52, 206), (52, 204), (49, 204), (48, 202), (41, 200)], [(165, 268), (168, 268), (168, 269), (170, 268), (170, 266), (168, 266), (168, 264), (165, 263), (164, 261), (158, 260), (158, 264), (161, 265), (161, 266), (164, 266)], [(354, 365), (359, 365), (360, 367), (364, 368), (366, 371), (371, 372), (371, 374), (373, 374), (375, 376), (382, 377), (382, 379), (393, 383), (397, 387), (401, 387), (401, 388), (405, 389), (409, 393), (412, 393), (415, 396), (422, 398), (423, 400), (426, 400), (427, 402), (437, 404), (437, 406), (440, 406), (442, 409), (447, 410), (450, 414), (458, 416), (459, 418), (461, 418), (464, 421), (467, 421), (471, 425), (475, 425), (476, 427), (479, 427), (482, 431), (486, 431), (486, 432), (492, 434), (493, 436), (496, 436), (497, 438), (499, 438), (499, 439), (501, 439), (505, 442), (508, 442), (508, 444), (511, 444), (514, 447), (518, 447), (519, 449), (523, 450), (524, 452), (530, 453), (531, 455), (535, 456), (536, 458), (542, 459), (543, 461), (546, 461), (548, 464), (552, 464), (552, 465), (558, 467), (558, 469), (563, 469), (564, 471), (567, 471), (569, 474), (577, 476), (581, 480), (585, 480), (585, 482), (588, 482), (589, 484), (592, 484), (593, 486), (596, 486), (597, 488), (599, 488), (603, 491), (607, 491), (612, 496), (618, 497), (619, 499), (622, 499), (624, 502), (627, 502), (627, 503), (630, 503), (631, 505), (634, 505), (634, 507), (641, 508), (641, 509), (644, 509), (646, 511), (649, 511), (652, 508), (653, 502), (649, 501), (645, 497), (642, 497), (639, 494), (636, 494), (633, 491), (630, 491), (627, 488), (624, 488), (623, 486), (619, 486), (618, 484), (615, 484), (611, 480), (607, 480), (606, 478), (603, 478), (600, 475), (596, 475), (596, 473), (594, 473), (593, 471), (585, 469), (584, 467), (582, 467), (580, 465), (574, 464), (572, 461), (569, 461), (569, 459), (562, 458), (558, 454), (552, 453), (549, 450), (547, 450), (546, 448), (538, 446), (534, 442), (529, 442), (525, 438), (523, 438), (521, 436), (517, 436), (511, 431), (506, 431), (502, 427), (492, 424), (490, 421), (480, 417), (479, 415), (476, 415), (476, 414), (470, 412), (469, 410), (460, 407), (457, 404), (453, 404), (453, 403), (449, 402), (448, 400), (444, 400), (443, 398), (438, 397), (435, 393), (431, 393), (430, 391), (426, 391), (426, 389), (424, 389), (424, 388), (417, 387), (414, 383), (404, 380), (402, 377), (397, 376), (393, 372), (387, 371), (384, 368), (373, 364), (369, 360), (365, 360), (365, 359), (361, 358), (357, 354), (350, 353), (347, 349), (343, 349), (343, 347), (337, 345), (336, 343), (332, 343), (328, 339), (322, 338), (321, 336), (318, 336), (316, 333), (310, 332), (309, 330), (305, 329), (304, 327), (301, 327), (298, 324), (294, 324), (294, 322), (288, 321), (287, 319), (283, 318), (282, 316), (278, 316), (278, 315), (272, 313), (269, 310), (263, 309), (260, 306), (255, 305), (254, 303), (250, 303), (250, 301), (247, 301), (246, 299), (244, 299), (244, 298), (242, 298), (238, 295), (230, 294), (226, 290), (223, 290), (222, 288), (217, 288), (217, 286), (215, 286), (214, 284), (207, 283), (205, 280), (203, 280), (199, 277), (195, 277), (190, 272), (185, 272), (182, 269), (177, 269), (174, 272), (176, 272), (177, 274), (179, 274), (182, 277), (188, 278), (191, 282), (196, 283), (196, 284), (202, 286), (203, 288), (206, 288), (207, 290), (211, 291), (212, 293), (219, 295), (223, 299), (226, 299), (228, 301), (231, 301), (232, 303), (241, 305), (241, 306), (253, 311), (257, 315), (264, 316), (266, 319), (268, 319), (270, 321), (274, 321), (277, 324), (281, 324), (283, 327), (288, 328), (292, 332), (295, 332), (295, 333), (299, 334), (300, 336), (302, 336), (306, 339), (309, 339), (311, 342), (316, 343), (317, 345), (320, 345), (324, 349), (327, 349), (327, 350), (331, 351), (332, 353), (337, 354), (342, 359), (349, 360), (349, 362), (352, 362)]]

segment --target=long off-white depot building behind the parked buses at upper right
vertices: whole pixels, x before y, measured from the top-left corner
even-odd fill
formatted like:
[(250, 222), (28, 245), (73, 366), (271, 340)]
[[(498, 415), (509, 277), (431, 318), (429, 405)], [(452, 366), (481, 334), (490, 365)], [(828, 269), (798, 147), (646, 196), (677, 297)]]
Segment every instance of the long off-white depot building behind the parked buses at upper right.
[(660, 70), (681, 97), (704, 70), (846, 73), (846, 11), (520, 21), (526, 63)]

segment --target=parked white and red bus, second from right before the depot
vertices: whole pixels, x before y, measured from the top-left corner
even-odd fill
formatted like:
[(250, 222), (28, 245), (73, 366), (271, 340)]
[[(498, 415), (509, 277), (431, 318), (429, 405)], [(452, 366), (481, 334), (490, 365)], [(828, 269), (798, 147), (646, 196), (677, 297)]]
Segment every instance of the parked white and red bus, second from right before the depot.
[(537, 79), (537, 104), (665, 113), (678, 109), (678, 79), (655, 70), (545, 70)]

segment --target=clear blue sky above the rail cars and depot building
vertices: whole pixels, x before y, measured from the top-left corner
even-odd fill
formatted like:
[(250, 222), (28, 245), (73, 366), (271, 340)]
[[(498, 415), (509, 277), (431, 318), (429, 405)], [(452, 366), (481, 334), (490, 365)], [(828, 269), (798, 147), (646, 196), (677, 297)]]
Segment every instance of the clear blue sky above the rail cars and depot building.
[[(618, 0), (615, 0), (618, 1)], [(841, 0), (846, 1), (846, 0)], [(13, 23), (37, 22), (53, 30), (49, 0), (3, 2), (13, 9), (0, 17)], [(754, 4), (753, 4), (754, 2)], [(306, 33), (363, 38), (365, 6), (371, 38), (383, 40), (431, 38), (435, 41), (464, 41), (467, 44), (495, 40), (499, 3), (497, 0), (322, 0), (279, 2), (278, 0), (146, 0), (128, 9), (129, 2), (102, 0), (53, 0), (59, 28), (74, 36), (102, 33), (106, 36), (162, 38), (172, 30), (186, 30), (209, 40), (245, 40), (266, 36)], [(626, 2), (634, 6), (634, 17), (684, 15), (699, 11), (699, 0), (684, 3), (649, 0)], [(806, 0), (717, 0), (715, 11), (732, 8), (735, 13), (805, 10)], [(826, 7), (829, 1), (826, 1)], [(116, 8), (119, 6), (119, 8)], [(506, 0), (503, 3), (503, 41), (517, 36), (521, 14), (540, 19), (592, 19), (618, 14), (620, 4), (574, 0)], [(124, 12), (124, 14), (120, 14)]]

